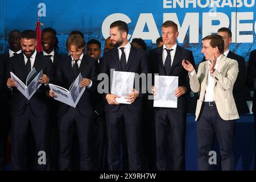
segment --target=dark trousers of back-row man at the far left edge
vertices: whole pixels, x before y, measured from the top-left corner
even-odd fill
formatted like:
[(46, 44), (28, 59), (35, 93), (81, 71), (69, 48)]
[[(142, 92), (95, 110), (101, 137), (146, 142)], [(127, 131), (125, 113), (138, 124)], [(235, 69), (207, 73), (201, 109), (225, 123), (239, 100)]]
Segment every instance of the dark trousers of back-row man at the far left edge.
[[(1, 108), (2, 109), (2, 108)], [(11, 129), (11, 117), (9, 112), (1, 111), (0, 119), (0, 171), (6, 166), (6, 144)]]

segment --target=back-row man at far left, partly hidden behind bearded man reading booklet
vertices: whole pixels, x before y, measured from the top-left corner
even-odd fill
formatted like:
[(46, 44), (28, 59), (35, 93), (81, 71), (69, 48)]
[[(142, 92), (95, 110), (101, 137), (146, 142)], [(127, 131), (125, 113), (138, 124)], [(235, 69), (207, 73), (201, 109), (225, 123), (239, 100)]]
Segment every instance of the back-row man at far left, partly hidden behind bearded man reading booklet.
[[(2, 64), (2, 74), (5, 74), (6, 72), (6, 65), (10, 59), (10, 57), (13, 57), (17, 55), (18, 53), (21, 53), (20, 49), (20, 32), (18, 30), (13, 30), (9, 33), (8, 38), (9, 43), (9, 52), (3, 53), (0, 55), (0, 61)], [(5, 162), (6, 162), (6, 142), (7, 138), (11, 129), (11, 117), (10, 117), (10, 99), (11, 99), (11, 93), (6, 88), (6, 86), (3, 86), (1, 89), (1, 95), (0, 95), (0, 111), (3, 118), (0, 122), (0, 171), (5, 169)]]

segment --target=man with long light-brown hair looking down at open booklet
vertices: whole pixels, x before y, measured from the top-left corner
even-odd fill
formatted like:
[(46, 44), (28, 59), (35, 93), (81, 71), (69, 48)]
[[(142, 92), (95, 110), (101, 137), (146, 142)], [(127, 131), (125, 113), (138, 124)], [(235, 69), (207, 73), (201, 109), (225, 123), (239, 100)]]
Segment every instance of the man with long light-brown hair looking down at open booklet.
[(76, 129), (80, 147), (80, 170), (90, 170), (94, 116), (90, 95), (97, 89), (97, 63), (84, 55), (85, 42), (80, 35), (70, 35), (66, 47), (69, 56), (66, 56), (56, 69), (56, 85), (49, 85), (51, 97), (59, 100), (59, 97), (70, 94), (73, 102), (69, 104), (70, 102), (67, 102), (69, 98), (64, 99), (65, 96), (59, 100), (61, 101), (57, 112), (60, 133), (59, 168), (71, 170), (71, 148)]

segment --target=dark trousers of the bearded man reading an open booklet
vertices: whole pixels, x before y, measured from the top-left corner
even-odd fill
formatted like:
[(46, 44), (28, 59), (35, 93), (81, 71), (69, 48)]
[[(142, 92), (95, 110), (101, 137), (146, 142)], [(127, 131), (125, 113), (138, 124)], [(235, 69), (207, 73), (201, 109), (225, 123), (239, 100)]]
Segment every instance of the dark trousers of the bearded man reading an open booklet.
[[(37, 162), (36, 170), (48, 170), (49, 169), (49, 152), (48, 152), (48, 138), (47, 138), (47, 125), (48, 117), (36, 117), (32, 114), (30, 105), (26, 106), (24, 113), (20, 116), (12, 117), (12, 128), (11, 128), (11, 168), (13, 170), (26, 170), (26, 157), (34, 158), (34, 156), (27, 156), (27, 136), (28, 136), (28, 126), (31, 124), (32, 134), (34, 135), (35, 148)], [(45, 152), (45, 160), (43, 160), (42, 153)], [(40, 161), (45, 161), (46, 163), (41, 163)]]

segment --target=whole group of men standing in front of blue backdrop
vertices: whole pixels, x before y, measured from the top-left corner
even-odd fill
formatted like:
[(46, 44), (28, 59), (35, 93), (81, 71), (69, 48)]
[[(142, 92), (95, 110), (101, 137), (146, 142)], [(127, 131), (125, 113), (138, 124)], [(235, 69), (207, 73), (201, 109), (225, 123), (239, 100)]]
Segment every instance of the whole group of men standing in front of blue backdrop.
[[(79, 32), (73, 31), (69, 35), (66, 42), (68, 55), (64, 57), (57, 54), (58, 41), (52, 28), (45, 28), (42, 32), (42, 53), (36, 52), (34, 31), (25, 30), (21, 34), (18, 31), (10, 32), (9, 43), (14, 43), (10, 46), (9, 55), (5, 59), (1, 57), (0, 91), (1, 99), (5, 101), (1, 101), (1, 110), (6, 113), (6, 118), (1, 121), (1, 128), (10, 129), (11, 126), (13, 170), (27, 169), (29, 126), (32, 129), (36, 154), (40, 151), (46, 153), (43, 162), (36, 161), (35, 169), (38, 170), (72, 169), (74, 133), (77, 133), (75, 139), (79, 145), (80, 170), (106, 169), (105, 158), (108, 160), (109, 170), (119, 170), (121, 166), (125, 169), (121, 156), (127, 158), (127, 169), (133, 171), (184, 170), (186, 94), (190, 90), (200, 92), (196, 108), (198, 169), (210, 169), (208, 154), (212, 150), (214, 134), (220, 144), (222, 169), (234, 169), (234, 125), (239, 115), (238, 104), (236, 105), (238, 101), (233, 97), (236, 89), (233, 88), (236, 84), (245, 83), (245, 72), (242, 71), (245, 67), (244, 60), (238, 60), (240, 57), (229, 51), (228, 46), (232, 42), (229, 29), (222, 28), (218, 35), (209, 35), (203, 39), (202, 53), (206, 61), (199, 64), (197, 73), (192, 51), (176, 43), (179, 31), (175, 22), (168, 20), (162, 24), (163, 46), (152, 49), (148, 55), (143, 49), (129, 43), (128, 32), (127, 24), (121, 20), (110, 24), (108, 39), (111, 40), (109, 45), (113, 48), (104, 52), (101, 58), (101, 44), (97, 40), (90, 40), (86, 47), (83, 35)], [(109, 45), (106, 44), (106, 48)], [(84, 53), (85, 48), (87, 55)], [(233, 57), (230, 59), (229, 55)], [(10, 78), (10, 72), (26, 82), (32, 68), (43, 71), (39, 80), (42, 85), (27, 100), (16, 89), (17, 84)], [(141, 89), (133, 89), (127, 94), (126, 99), (130, 104), (119, 104), (116, 100), (119, 96), (111, 94), (110, 89), (106, 93), (98, 93), (97, 75), (105, 73), (109, 76), (110, 83), (112, 69), (139, 75), (153, 73), (177, 76), (177, 107), (153, 108), (152, 102), (147, 100), (147, 94), (142, 93)], [(56, 94), (49, 89), (49, 83), (69, 89), (79, 73), (83, 78), (80, 88), (85, 87), (85, 92), (76, 107), (51, 98), (56, 97)], [(239, 83), (236, 82), (238, 78), (241, 79)], [(154, 82), (150, 86), (152, 94), (156, 94), (158, 88), (154, 86)], [(147, 113), (150, 115), (151, 111), (152, 118), (149, 118)], [(143, 121), (148, 118), (152, 120), (152, 125), (151, 121)], [(150, 134), (153, 135), (151, 142), (154, 146), (151, 151), (154, 152), (144, 149), (148, 147), (142, 136), (143, 130), (148, 129), (145, 125), (152, 126)], [(1, 132), (1, 169), (5, 165), (3, 156), (8, 133), (8, 130)], [(127, 152), (127, 156), (121, 155), (121, 146), (122, 153)], [(148, 160), (154, 160), (152, 166), (145, 166), (146, 155), (150, 155)]]

